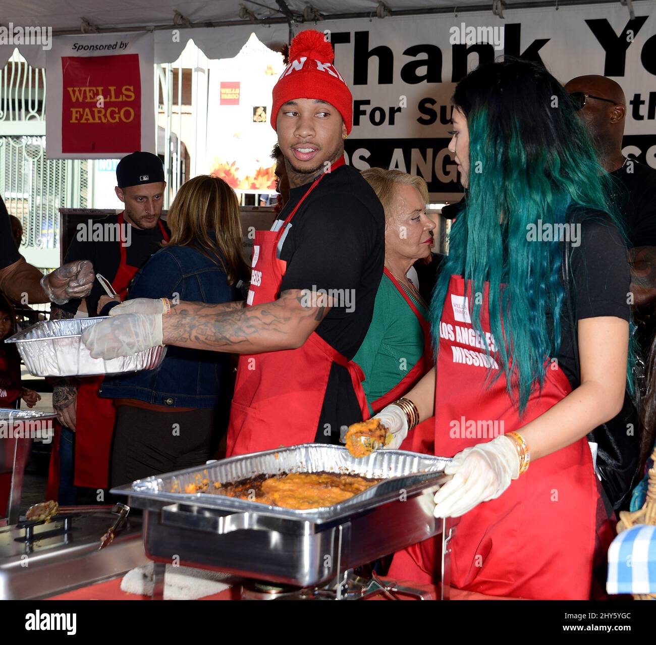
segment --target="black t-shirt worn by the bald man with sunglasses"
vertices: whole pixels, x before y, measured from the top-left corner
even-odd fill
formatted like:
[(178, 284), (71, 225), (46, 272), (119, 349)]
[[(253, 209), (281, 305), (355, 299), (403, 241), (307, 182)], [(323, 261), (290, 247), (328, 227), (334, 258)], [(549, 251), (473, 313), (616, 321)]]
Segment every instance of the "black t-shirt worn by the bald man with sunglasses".
[(610, 174), (619, 180), (615, 205), (624, 218), (630, 245), (656, 246), (656, 170), (629, 159)]

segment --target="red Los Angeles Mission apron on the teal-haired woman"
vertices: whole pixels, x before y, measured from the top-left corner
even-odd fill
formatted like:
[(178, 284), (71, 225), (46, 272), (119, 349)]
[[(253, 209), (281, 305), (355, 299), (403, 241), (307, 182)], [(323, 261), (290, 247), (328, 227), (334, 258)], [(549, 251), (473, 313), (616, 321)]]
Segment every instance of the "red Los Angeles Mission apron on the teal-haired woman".
[[(520, 419), (503, 373), (492, 383), (487, 379), (485, 347), (467, 322), (464, 295), (463, 278), (451, 276), (440, 322), (435, 395), (435, 453), (445, 457), (493, 438), (489, 424), (478, 428), (479, 422), (498, 422), (493, 428), (498, 434), (521, 430), (571, 391), (562, 371), (547, 369), (541, 392), (531, 394)], [(483, 333), (490, 332), (487, 297), (486, 284)], [(478, 429), (472, 431), (468, 421)], [(501, 497), (462, 516), (452, 542), (453, 586), (491, 596), (589, 598), (597, 503), (592, 456), (583, 437), (535, 461)], [(431, 539), (398, 552), (390, 577), (439, 579), (440, 544)]]

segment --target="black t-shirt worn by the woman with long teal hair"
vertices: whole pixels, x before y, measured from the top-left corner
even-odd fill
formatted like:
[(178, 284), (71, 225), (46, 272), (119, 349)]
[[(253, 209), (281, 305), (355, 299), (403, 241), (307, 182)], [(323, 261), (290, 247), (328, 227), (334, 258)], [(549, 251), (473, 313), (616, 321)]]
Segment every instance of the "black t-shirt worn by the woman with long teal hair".
[[(573, 320), (617, 316), (629, 320), (628, 291), (630, 271), (626, 247), (617, 226), (601, 212), (587, 211), (576, 215), (580, 243), (571, 245), (569, 289), (574, 304)], [(548, 316), (551, 327), (551, 318)], [(560, 316), (561, 341), (558, 365), (572, 387), (579, 384), (569, 323), (567, 294)]]

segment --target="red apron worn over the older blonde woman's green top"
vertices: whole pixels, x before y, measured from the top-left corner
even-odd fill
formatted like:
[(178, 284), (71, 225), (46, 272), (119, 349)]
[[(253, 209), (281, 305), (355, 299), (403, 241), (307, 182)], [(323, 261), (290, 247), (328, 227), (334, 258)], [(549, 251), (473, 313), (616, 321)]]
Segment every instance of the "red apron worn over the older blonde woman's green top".
[[(403, 394), (406, 394), (411, 390), (434, 365), (431, 352), (432, 339), (430, 337), (430, 324), (419, 311), (411, 297), (405, 293), (405, 289), (401, 287), (398, 280), (394, 278), (392, 272), (389, 271), (387, 267), (384, 268), (384, 274), (392, 281), (392, 284), (403, 296), (403, 299), (405, 299), (405, 302), (407, 302), (408, 306), (413, 311), (413, 314), (417, 316), (417, 320), (419, 320), (421, 329), (424, 332), (424, 353), (417, 363), (415, 363), (413, 368), (403, 377), (403, 379), (401, 379), (401, 381), (399, 381), (399, 383), (396, 384), (396, 386), (394, 386), (394, 388), (392, 388), (387, 394), (383, 394), (380, 398), (377, 398), (371, 404), (371, 409), (373, 409), (374, 414), (380, 412), (385, 406), (393, 403), (403, 396)], [(400, 449), (411, 450), (413, 452), (432, 453), (434, 433), (435, 417), (430, 417), (430, 419), (426, 419), (426, 421), (423, 421), (417, 425), (417, 427), (409, 430), (407, 437), (403, 440), (403, 443), (401, 443)]]

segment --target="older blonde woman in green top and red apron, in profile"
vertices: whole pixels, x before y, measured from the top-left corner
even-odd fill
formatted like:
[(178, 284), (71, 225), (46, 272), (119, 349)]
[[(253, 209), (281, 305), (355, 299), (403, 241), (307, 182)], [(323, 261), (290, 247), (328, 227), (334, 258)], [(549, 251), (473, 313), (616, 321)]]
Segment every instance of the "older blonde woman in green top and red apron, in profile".
[[(435, 223), (426, 215), (428, 186), (415, 175), (370, 168), (362, 176), (385, 212), (385, 267), (369, 331), (354, 357), (365, 374), (369, 411), (396, 401), (432, 367), (428, 306), (407, 273), (419, 259), (430, 259)], [(405, 449), (424, 450), (419, 432)]]

